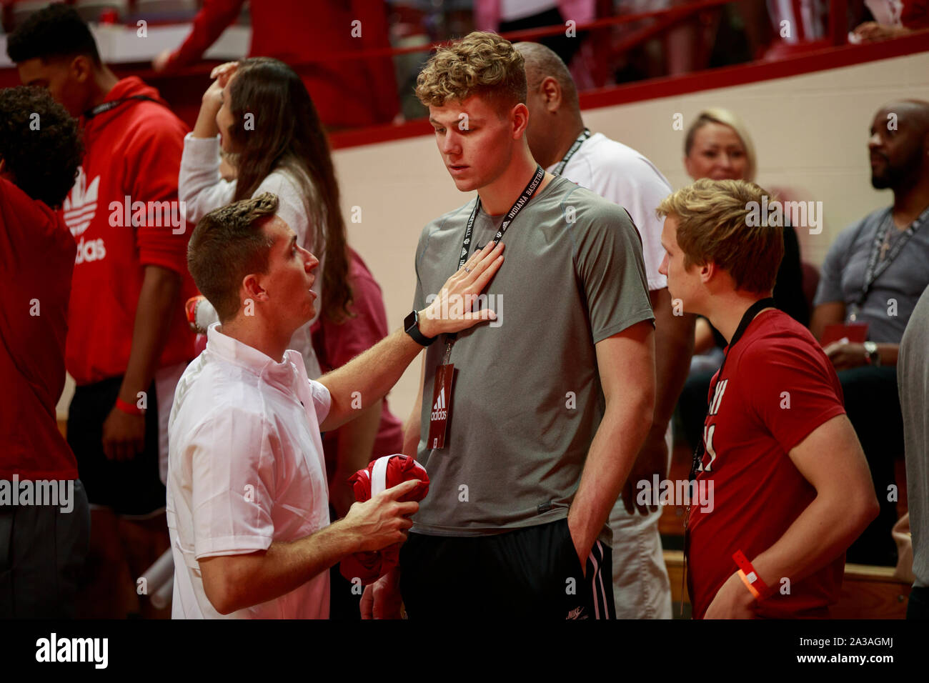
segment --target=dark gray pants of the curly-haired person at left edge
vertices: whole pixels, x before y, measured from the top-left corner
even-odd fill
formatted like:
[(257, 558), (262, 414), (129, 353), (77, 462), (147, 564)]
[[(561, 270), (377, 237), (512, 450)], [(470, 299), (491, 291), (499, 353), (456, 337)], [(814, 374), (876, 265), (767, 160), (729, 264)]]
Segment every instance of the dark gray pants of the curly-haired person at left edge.
[(80, 479), (73, 508), (0, 506), (0, 619), (74, 616), (74, 596), (90, 538)]

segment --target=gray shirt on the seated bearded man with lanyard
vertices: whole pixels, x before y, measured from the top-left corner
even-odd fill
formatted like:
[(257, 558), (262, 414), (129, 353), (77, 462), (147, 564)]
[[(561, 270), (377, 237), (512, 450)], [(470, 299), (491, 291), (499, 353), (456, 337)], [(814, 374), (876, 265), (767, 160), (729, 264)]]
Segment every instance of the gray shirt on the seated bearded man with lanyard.
[[(853, 223), (835, 239), (822, 264), (819, 286), (813, 301), (816, 306), (843, 301), (845, 322), (848, 322), (852, 304), (857, 301), (865, 282), (865, 270), (868, 269), (874, 237), (889, 211), (889, 208), (878, 209)], [(896, 241), (902, 236), (900, 230), (892, 229), (890, 232), (891, 240)], [(900, 342), (916, 300), (929, 284), (927, 263), (929, 225), (923, 225), (890, 266), (871, 284), (857, 318), (858, 322), (868, 322), (868, 337), (871, 341), (892, 344)]]

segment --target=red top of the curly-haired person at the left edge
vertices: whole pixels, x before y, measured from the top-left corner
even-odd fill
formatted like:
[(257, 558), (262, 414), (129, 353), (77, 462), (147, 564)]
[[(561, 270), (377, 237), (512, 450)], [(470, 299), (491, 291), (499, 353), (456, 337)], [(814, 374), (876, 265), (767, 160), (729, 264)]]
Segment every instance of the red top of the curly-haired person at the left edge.
[(0, 479), (77, 479), (55, 414), (73, 269), (59, 215), (0, 178)]

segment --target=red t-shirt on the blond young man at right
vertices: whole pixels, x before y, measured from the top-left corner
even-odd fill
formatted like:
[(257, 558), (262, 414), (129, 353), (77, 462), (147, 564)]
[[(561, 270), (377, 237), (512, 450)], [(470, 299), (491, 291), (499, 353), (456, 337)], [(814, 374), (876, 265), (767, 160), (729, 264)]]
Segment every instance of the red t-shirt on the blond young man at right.
[[(731, 349), (703, 427), (706, 453), (697, 484), (713, 506), (692, 504), (688, 575), (693, 614), (703, 618), (737, 550), (752, 560), (774, 545), (816, 497), (788, 453), (811, 432), (844, 414), (842, 386), (812, 335), (779, 310), (759, 314)], [(717, 374), (718, 375), (718, 374)], [(718, 379), (718, 381), (717, 381)], [(781, 595), (781, 577), (762, 576), (777, 592), (759, 616), (827, 616), (839, 598), (844, 554)], [(784, 584), (786, 585), (786, 584)]]

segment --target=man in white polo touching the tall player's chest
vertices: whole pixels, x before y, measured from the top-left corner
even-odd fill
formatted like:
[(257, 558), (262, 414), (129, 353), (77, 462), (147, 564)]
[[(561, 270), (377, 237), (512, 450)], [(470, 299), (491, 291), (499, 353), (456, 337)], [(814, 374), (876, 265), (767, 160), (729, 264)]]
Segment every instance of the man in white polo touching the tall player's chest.
[[(485, 309), (443, 320), (500, 267), (491, 245), (434, 304), (319, 382), (291, 335), (315, 313), (319, 261), (296, 243), (265, 193), (203, 217), (190, 273), (216, 308), (203, 353), (177, 385), (169, 434), (167, 519), (175, 618), (326, 618), (329, 572), (348, 555), (401, 543), (414, 502), (404, 482), (329, 523), (321, 430), (383, 397), (428, 337), (492, 320)], [(445, 307), (442, 309), (442, 307)]]

